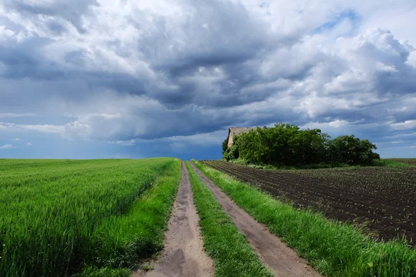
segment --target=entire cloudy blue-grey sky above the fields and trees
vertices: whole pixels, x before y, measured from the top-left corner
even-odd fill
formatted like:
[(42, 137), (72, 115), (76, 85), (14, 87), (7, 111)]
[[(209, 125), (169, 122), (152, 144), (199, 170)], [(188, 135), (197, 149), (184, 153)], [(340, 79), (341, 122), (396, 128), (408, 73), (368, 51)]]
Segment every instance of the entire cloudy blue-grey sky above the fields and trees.
[(220, 159), (291, 123), (416, 157), (414, 0), (0, 0), (0, 158)]

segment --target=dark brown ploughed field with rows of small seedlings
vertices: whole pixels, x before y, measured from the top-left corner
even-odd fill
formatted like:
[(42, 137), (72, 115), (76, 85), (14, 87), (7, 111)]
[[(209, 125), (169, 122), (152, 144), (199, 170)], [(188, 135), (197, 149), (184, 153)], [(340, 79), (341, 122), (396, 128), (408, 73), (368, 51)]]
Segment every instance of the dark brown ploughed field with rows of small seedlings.
[(359, 222), (387, 240), (406, 235), (416, 244), (416, 168), (259, 170), (225, 161), (203, 163), (295, 206)]

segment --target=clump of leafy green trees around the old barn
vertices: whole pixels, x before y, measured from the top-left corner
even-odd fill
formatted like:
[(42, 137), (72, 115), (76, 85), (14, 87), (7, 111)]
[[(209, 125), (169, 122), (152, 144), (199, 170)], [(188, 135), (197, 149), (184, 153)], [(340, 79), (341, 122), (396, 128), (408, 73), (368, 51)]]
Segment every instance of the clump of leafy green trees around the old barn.
[(249, 163), (273, 166), (348, 164), (370, 166), (380, 159), (376, 145), (354, 135), (331, 139), (320, 129), (300, 129), (297, 125), (277, 123), (275, 127), (253, 129), (233, 137), (228, 148), (223, 142), (223, 159), (242, 159)]

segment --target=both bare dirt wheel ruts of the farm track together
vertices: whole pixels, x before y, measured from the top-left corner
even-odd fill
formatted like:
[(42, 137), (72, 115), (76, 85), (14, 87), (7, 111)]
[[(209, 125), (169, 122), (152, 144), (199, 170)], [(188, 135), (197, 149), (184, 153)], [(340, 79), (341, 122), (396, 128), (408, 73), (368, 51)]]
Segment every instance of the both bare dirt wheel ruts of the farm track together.
[[(215, 186), (196, 166), (191, 163), (198, 176), (205, 182), (214, 197), (244, 233), (260, 260), (277, 277), (320, 277), (315, 269), (307, 265), (289, 248), (272, 235), (268, 229), (239, 208), (220, 188)], [(182, 161), (182, 179), (168, 222), (165, 247), (152, 271), (135, 271), (133, 276), (146, 277), (209, 277), (214, 276), (213, 261), (203, 250), (198, 227), (198, 214), (193, 204), (193, 193), (189, 174)], [(230, 242), (232, 243), (232, 242)]]

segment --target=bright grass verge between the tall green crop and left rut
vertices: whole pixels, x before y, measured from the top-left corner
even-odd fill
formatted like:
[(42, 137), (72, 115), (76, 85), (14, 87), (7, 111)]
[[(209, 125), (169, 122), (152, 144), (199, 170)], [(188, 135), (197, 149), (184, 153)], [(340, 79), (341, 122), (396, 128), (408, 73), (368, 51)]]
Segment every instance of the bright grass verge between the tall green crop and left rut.
[[(181, 177), (176, 159), (124, 215), (112, 215), (94, 230), (92, 260), (80, 276), (126, 276), (139, 258), (163, 247), (164, 232)], [(117, 267), (124, 267), (116, 269)]]

